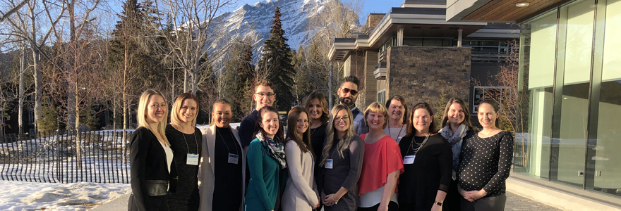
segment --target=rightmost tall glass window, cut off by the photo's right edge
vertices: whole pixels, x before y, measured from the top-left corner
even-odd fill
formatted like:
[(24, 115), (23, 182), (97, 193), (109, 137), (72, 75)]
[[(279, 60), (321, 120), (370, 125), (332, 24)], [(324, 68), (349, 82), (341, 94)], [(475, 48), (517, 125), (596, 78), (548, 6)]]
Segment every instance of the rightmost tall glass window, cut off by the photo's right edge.
[(596, 154), (590, 157), (595, 160), (593, 189), (621, 196), (621, 0), (606, 4)]

